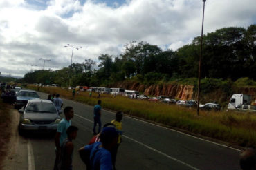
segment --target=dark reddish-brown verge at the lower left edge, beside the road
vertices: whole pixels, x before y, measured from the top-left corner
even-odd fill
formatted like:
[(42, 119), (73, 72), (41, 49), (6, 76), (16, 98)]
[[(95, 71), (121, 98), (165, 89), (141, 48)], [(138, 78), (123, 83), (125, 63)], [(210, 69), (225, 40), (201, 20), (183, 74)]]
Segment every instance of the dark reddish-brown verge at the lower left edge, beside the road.
[(10, 141), (11, 106), (0, 100), (0, 169), (6, 156), (6, 145)]

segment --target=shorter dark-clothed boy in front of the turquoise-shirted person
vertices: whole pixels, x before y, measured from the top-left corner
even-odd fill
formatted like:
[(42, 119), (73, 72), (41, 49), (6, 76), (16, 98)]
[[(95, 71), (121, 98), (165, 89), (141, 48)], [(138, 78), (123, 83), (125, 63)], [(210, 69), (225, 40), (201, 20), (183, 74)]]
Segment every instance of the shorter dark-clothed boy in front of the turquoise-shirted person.
[(78, 128), (70, 126), (66, 130), (68, 138), (66, 138), (60, 147), (60, 170), (72, 170), (73, 150), (74, 145), (72, 140), (77, 137)]

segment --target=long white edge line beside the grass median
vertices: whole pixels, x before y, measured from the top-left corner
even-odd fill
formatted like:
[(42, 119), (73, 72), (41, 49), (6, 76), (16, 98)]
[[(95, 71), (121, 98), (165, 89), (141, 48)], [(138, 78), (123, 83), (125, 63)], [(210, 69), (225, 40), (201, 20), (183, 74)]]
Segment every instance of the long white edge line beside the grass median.
[[(66, 98), (65, 98), (65, 99), (66, 99)], [(68, 99), (66, 99), (66, 100), (68, 100)], [(79, 102), (73, 101), (73, 100), (68, 100), (68, 101), (71, 101), (71, 102), (77, 103), (77, 104), (81, 104), (81, 105), (86, 105), (86, 106), (89, 106), (89, 107), (93, 107), (93, 106), (91, 106), (91, 105), (87, 105), (87, 104), (84, 104), (84, 103), (79, 103)], [(109, 112), (109, 113), (111, 113), (111, 114), (116, 114), (116, 113), (113, 112), (113, 111), (109, 111), (109, 110), (106, 110), (106, 109), (102, 109), (102, 110), (104, 110), (104, 111), (106, 111), (106, 112)], [(125, 115), (124, 115), (124, 116), (125, 116)], [(205, 141), (205, 142), (210, 142), (210, 143), (212, 143), (212, 144), (219, 145), (219, 146), (221, 146), (221, 147), (226, 147), (226, 148), (229, 148), (229, 149), (233, 149), (233, 150), (235, 150), (235, 151), (241, 151), (241, 150), (236, 149), (236, 148), (234, 148), (234, 147), (229, 147), (229, 146), (227, 146), (227, 145), (222, 145), (222, 144), (217, 143), (217, 142), (212, 142), (212, 141), (210, 141), (210, 140), (206, 140), (206, 139), (203, 139), (203, 138), (199, 138), (199, 137), (196, 137), (196, 136), (192, 136), (192, 135), (190, 135), (190, 134), (186, 134), (186, 133), (183, 133), (183, 132), (181, 132), (181, 131), (176, 131), (176, 130), (174, 130), (174, 129), (170, 129), (170, 128), (167, 128), (167, 127), (163, 127), (163, 126), (161, 126), (161, 125), (156, 125), (156, 124), (154, 124), (154, 123), (149, 123), (149, 122), (144, 121), (144, 120), (132, 118), (131, 116), (125, 116), (125, 117), (126, 117), (126, 118), (131, 118), (131, 119), (134, 119), (134, 120), (138, 120), (138, 121), (143, 122), (143, 123), (148, 123), (148, 124), (150, 124), (150, 125), (154, 125), (154, 126), (157, 126), (157, 127), (161, 127), (161, 128), (164, 128), (164, 129), (167, 129), (167, 130), (170, 130), (170, 131), (175, 131), (175, 132), (177, 132), (177, 133), (179, 133), (179, 134), (183, 134), (183, 135), (186, 135), (186, 136), (190, 136), (190, 137), (192, 137), (192, 138), (196, 138), (196, 139), (199, 139), (199, 140), (203, 140), (203, 141)]]

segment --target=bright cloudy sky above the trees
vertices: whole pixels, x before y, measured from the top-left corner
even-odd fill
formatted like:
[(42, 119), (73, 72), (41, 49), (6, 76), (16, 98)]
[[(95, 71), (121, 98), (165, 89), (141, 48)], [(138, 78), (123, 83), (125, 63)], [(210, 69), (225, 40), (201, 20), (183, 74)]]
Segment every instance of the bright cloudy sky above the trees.
[[(255, 0), (207, 0), (204, 34), (256, 24)], [(131, 41), (177, 50), (201, 34), (201, 0), (0, 0), (0, 72), (58, 70)]]

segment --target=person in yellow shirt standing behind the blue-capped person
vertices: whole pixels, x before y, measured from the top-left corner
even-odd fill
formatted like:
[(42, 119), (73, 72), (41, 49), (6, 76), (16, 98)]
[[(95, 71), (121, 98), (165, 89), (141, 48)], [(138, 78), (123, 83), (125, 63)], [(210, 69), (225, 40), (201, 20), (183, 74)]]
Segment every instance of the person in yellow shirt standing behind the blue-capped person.
[(112, 120), (111, 123), (115, 125), (117, 131), (118, 131), (118, 143), (116, 144), (113, 149), (111, 149), (111, 156), (112, 156), (112, 164), (113, 164), (113, 170), (116, 170), (116, 156), (118, 153), (118, 147), (120, 143), (122, 142), (122, 111), (116, 112), (116, 119)]

